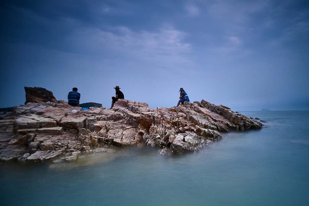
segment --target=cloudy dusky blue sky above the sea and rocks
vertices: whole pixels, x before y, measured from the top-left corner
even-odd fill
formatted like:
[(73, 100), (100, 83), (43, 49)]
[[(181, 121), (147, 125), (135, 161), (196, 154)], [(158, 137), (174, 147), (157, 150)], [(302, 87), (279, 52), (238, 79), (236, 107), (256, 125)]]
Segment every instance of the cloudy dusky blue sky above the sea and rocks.
[(308, 0), (2, 0), (0, 107), (27, 87), (150, 108), (183, 87), (245, 110), (309, 110)]

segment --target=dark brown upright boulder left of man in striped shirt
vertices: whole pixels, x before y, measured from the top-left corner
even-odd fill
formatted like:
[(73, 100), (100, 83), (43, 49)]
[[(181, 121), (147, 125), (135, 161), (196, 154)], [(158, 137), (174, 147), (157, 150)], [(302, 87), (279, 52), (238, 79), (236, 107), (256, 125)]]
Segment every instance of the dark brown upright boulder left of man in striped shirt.
[(26, 102), (41, 103), (41, 102), (57, 102), (53, 92), (46, 90), (42, 87), (26, 87)]

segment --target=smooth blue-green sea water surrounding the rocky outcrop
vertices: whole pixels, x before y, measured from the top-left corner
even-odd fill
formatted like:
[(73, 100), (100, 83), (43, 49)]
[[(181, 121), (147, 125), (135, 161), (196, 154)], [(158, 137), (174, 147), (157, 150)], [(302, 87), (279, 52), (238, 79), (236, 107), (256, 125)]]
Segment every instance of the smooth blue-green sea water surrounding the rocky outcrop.
[(0, 205), (309, 205), (309, 111), (241, 111), (260, 130), (197, 153), (119, 148), (76, 162), (0, 165)]

